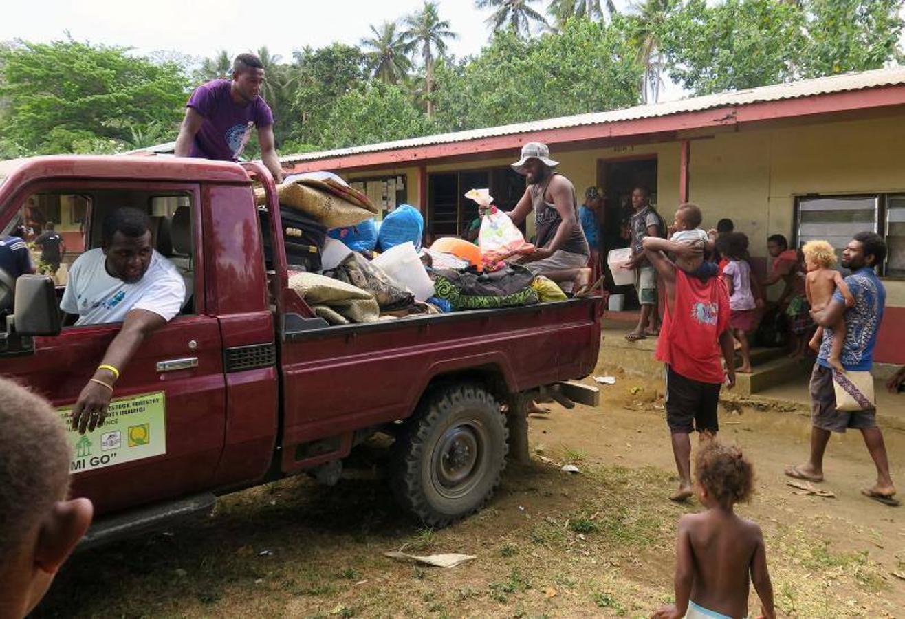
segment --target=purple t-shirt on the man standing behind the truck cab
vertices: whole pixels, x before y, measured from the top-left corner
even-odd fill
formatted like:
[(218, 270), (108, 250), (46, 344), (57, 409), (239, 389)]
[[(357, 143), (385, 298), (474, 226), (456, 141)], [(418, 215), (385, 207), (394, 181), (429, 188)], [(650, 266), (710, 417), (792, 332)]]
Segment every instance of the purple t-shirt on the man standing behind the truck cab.
[(230, 94), (230, 80), (208, 81), (195, 89), (186, 108), (203, 117), (201, 129), (195, 134), (191, 157), (236, 161), (242, 155), (252, 126), (270, 127), (273, 114), (261, 97), (247, 105), (236, 105)]

